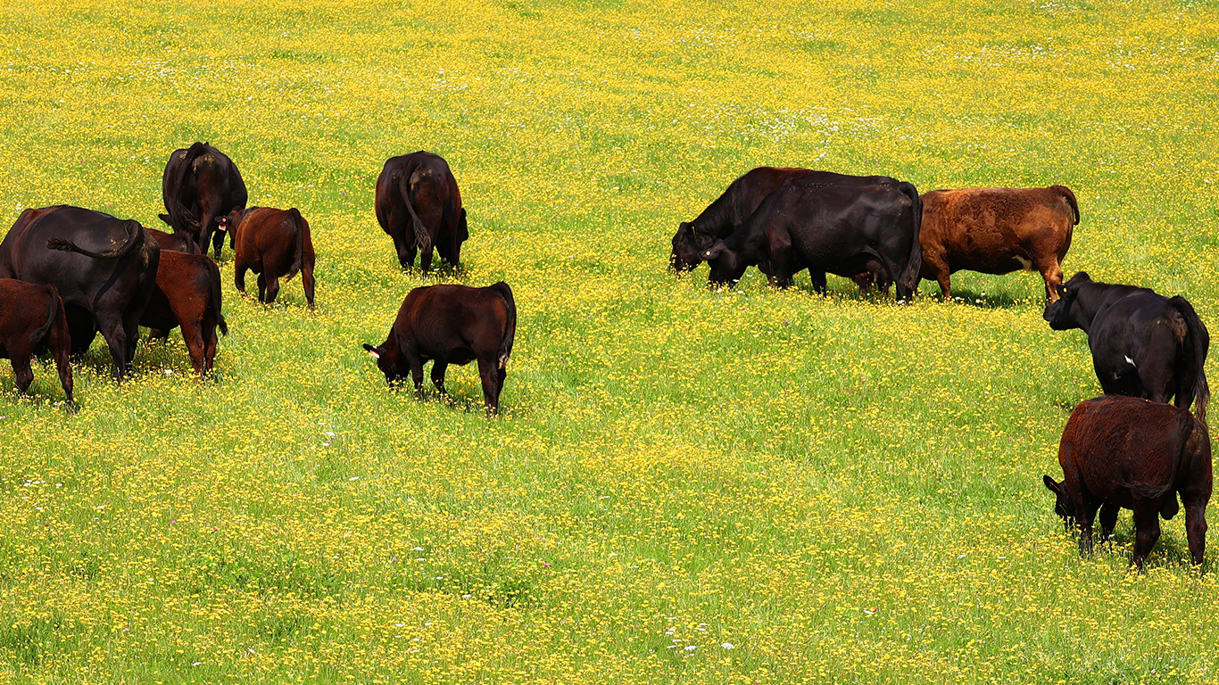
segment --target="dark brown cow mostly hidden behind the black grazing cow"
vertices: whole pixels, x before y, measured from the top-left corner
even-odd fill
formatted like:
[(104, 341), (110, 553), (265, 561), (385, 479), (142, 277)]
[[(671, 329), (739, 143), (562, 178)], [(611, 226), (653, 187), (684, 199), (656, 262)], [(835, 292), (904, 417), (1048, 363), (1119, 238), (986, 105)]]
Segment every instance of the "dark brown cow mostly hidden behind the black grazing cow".
[[(728, 185), (728, 189), (694, 221), (678, 224), (673, 234), (669, 268), (677, 273), (694, 271), (702, 263), (702, 252), (716, 240), (733, 234), (758, 208), (767, 195), (784, 185), (801, 184), (876, 185), (898, 183), (887, 176), (847, 176), (801, 168), (757, 167)], [(861, 273), (861, 277), (863, 274)], [(864, 285), (861, 284), (861, 290)]]

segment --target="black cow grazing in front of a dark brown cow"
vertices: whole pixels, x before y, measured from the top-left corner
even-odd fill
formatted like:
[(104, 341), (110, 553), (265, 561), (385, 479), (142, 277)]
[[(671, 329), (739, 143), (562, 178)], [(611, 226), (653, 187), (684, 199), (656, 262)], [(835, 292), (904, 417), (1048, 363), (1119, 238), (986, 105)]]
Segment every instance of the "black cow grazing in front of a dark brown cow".
[(701, 256), (711, 263), (712, 284), (736, 282), (752, 264), (779, 288), (808, 268), (818, 293), (825, 293), (826, 272), (884, 273), (896, 275), (897, 299), (908, 301), (918, 285), (922, 213), (909, 183), (785, 185)]

